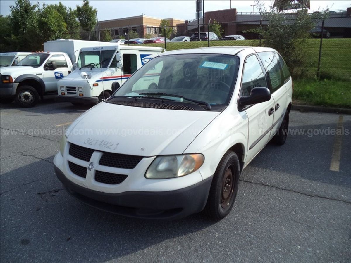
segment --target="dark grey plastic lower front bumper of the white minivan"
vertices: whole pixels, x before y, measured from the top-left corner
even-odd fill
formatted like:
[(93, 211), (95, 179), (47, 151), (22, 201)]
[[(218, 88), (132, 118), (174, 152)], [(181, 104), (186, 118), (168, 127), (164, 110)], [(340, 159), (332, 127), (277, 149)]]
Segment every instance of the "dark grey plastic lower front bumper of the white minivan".
[(56, 176), (77, 200), (110, 213), (145, 219), (179, 219), (205, 207), (212, 176), (172, 191), (126, 191), (118, 194), (91, 190), (68, 180), (54, 165)]

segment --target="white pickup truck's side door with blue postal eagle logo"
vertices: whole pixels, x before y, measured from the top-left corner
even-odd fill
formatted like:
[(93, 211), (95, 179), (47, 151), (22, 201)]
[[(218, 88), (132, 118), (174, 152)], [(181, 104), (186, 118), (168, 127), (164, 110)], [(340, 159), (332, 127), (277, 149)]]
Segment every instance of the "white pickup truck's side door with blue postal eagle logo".
[[(57, 68), (53, 67), (55, 62)], [(43, 77), (45, 82), (45, 92), (57, 91), (57, 82), (71, 73), (64, 55), (52, 55), (43, 66)]]

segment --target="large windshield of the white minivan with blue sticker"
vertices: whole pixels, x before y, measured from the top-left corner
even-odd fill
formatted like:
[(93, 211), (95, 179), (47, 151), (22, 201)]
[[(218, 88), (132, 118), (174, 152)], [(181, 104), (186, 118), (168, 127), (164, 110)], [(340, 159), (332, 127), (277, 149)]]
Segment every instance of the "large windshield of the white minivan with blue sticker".
[(239, 58), (233, 55), (158, 56), (135, 72), (114, 96), (141, 97), (150, 94), (180, 102), (188, 102), (185, 99), (188, 98), (223, 106), (229, 103), (238, 65)]

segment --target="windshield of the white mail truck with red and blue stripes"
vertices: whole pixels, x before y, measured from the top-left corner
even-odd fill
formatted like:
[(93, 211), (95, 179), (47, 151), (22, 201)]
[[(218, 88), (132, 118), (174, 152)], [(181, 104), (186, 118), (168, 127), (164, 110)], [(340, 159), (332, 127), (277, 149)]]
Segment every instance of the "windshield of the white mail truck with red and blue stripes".
[(116, 50), (81, 51), (78, 68), (107, 68)]

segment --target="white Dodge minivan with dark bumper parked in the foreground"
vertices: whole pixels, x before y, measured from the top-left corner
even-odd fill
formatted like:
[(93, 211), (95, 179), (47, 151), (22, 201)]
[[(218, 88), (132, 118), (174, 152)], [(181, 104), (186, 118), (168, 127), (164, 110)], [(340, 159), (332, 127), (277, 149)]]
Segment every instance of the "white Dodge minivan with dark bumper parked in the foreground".
[(165, 52), (66, 130), (54, 169), (68, 193), (112, 213), (177, 219), (231, 211), (241, 171), (284, 144), (292, 79), (272, 48)]

